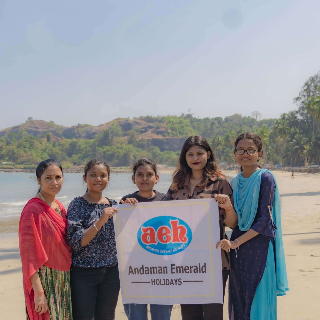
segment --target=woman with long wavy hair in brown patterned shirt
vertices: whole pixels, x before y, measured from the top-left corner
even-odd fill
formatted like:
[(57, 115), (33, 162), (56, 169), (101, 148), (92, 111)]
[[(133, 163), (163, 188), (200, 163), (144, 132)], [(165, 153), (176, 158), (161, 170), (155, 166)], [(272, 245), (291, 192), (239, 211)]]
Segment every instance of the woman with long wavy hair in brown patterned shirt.
[[(173, 200), (215, 198), (219, 204), (220, 239), (228, 239), (225, 226), (235, 227), (238, 216), (233, 207), (231, 186), (217, 170), (208, 142), (201, 136), (189, 137), (182, 146), (168, 195)], [(230, 254), (221, 250), (223, 297), (230, 272)], [(182, 304), (182, 320), (222, 320), (223, 304)]]

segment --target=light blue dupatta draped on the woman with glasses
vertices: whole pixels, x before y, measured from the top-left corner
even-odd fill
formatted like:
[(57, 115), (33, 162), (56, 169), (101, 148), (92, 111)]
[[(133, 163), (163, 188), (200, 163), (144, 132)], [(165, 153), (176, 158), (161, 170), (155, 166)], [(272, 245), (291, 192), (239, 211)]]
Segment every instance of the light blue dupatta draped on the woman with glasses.
[[(284, 247), (282, 242), (281, 229), (281, 202), (280, 194), (276, 179), (272, 172), (266, 169), (259, 169), (248, 179), (243, 179), (242, 172), (239, 172), (231, 180), (231, 187), (233, 189), (234, 206), (238, 214), (238, 226), (241, 231), (248, 231), (256, 216), (259, 202), (259, 192), (261, 184), (261, 174), (269, 172), (276, 184), (275, 198), (272, 207), (272, 220), (275, 223), (276, 238), (276, 286), (277, 296), (283, 296), (289, 290), (287, 271), (284, 259)], [(242, 179), (241, 179), (242, 178)]]

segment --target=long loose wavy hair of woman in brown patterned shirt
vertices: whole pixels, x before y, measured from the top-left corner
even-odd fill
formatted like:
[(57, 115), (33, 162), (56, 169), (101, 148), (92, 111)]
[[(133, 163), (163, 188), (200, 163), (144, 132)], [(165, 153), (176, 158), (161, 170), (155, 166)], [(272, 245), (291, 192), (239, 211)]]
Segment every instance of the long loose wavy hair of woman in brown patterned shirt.
[(180, 152), (177, 168), (172, 174), (172, 190), (177, 191), (179, 183), (185, 180), (186, 176), (191, 171), (191, 168), (187, 164), (186, 154), (188, 150), (193, 146), (198, 146), (204, 149), (205, 151), (210, 152), (209, 159), (207, 160), (207, 163), (204, 166), (202, 181), (197, 186), (206, 186), (208, 183), (208, 179), (212, 176), (216, 176), (218, 178), (225, 178), (225, 175), (218, 170), (218, 165), (216, 163), (214, 153), (208, 141), (205, 140), (202, 136), (191, 136), (184, 142)]

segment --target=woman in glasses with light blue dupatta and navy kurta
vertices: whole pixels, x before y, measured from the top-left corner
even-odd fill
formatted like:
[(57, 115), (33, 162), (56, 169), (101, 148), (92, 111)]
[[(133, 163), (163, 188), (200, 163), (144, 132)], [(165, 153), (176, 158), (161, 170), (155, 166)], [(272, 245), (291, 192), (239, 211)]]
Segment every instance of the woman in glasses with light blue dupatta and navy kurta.
[[(229, 240), (231, 250), (229, 319), (276, 320), (277, 295), (288, 288), (281, 231), (281, 203), (274, 175), (260, 169), (262, 140), (240, 134), (234, 155), (241, 171), (231, 180), (238, 225)], [(217, 246), (218, 246), (217, 245)]]

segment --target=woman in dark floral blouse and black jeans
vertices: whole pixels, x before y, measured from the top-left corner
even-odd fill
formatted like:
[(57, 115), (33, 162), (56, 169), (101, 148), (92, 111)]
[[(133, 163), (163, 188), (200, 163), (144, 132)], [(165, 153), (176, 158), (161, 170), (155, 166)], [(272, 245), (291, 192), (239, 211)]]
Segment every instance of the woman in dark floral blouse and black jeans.
[(108, 186), (106, 161), (84, 167), (87, 191), (68, 207), (68, 241), (73, 249), (70, 270), (72, 312), (76, 320), (113, 320), (120, 290), (113, 226), (115, 200), (102, 196)]

